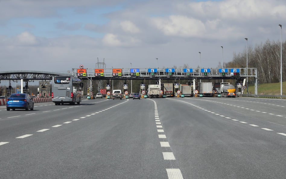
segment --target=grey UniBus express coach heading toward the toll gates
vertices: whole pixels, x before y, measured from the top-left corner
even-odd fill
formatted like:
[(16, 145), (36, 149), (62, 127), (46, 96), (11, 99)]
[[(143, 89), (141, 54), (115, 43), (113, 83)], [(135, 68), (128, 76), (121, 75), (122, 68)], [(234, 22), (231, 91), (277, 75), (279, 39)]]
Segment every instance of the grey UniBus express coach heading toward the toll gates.
[(81, 102), (83, 83), (73, 76), (54, 76), (52, 79), (52, 102), (55, 105)]

